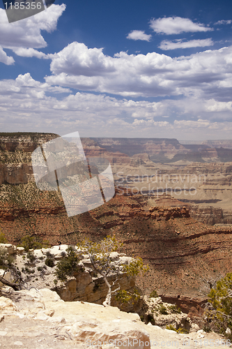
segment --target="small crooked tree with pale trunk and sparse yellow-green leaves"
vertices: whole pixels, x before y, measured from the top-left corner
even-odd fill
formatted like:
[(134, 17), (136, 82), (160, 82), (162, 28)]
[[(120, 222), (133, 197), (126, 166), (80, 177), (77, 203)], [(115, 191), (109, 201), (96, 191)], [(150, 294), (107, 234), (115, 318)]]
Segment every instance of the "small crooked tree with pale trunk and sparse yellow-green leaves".
[[(145, 266), (141, 258), (133, 259), (128, 264), (122, 264), (121, 260), (115, 260), (111, 257), (111, 252), (118, 250), (120, 246), (123, 246), (120, 242), (117, 242), (115, 237), (107, 236), (101, 242), (91, 242), (89, 239), (85, 239), (81, 244), (77, 245), (84, 253), (88, 254), (91, 260), (91, 265), (93, 267), (93, 272), (100, 274), (105, 283), (107, 284), (108, 292), (103, 302), (104, 306), (109, 306), (111, 304), (111, 296), (116, 294), (120, 290), (120, 285), (118, 283), (118, 288), (114, 289), (115, 283), (121, 279), (123, 272), (128, 276), (138, 275), (139, 272), (147, 272), (148, 266)], [(109, 276), (116, 275), (116, 280), (109, 283)], [(127, 297), (127, 295), (125, 295)]]

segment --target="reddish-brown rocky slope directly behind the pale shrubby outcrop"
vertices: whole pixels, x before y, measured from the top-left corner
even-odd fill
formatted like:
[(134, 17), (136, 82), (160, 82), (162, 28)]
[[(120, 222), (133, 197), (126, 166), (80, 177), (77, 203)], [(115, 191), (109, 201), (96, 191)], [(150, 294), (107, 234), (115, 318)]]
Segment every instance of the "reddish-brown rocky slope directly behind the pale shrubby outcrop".
[[(155, 288), (163, 297), (185, 295), (201, 302), (201, 277), (231, 270), (232, 230), (207, 228), (190, 217), (185, 205), (169, 195), (158, 202), (143, 195), (116, 195), (106, 205), (79, 216), (68, 218), (65, 211), (47, 214), (38, 209), (26, 219), (15, 216), (13, 221), (1, 221), (1, 229), (15, 243), (22, 228), (26, 230), (22, 235), (30, 232), (54, 244), (115, 235), (124, 244), (122, 253), (140, 256), (150, 265), (146, 278), (139, 281), (143, 290), (149, 293)], [(190, 307), (188, 302), (187, 311)]]

